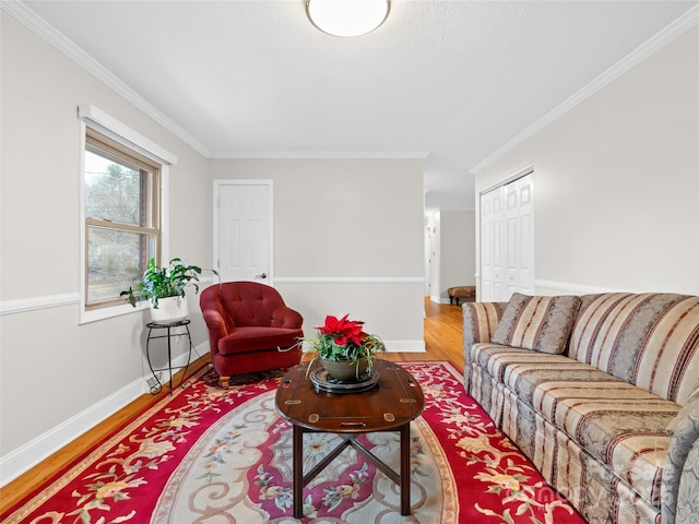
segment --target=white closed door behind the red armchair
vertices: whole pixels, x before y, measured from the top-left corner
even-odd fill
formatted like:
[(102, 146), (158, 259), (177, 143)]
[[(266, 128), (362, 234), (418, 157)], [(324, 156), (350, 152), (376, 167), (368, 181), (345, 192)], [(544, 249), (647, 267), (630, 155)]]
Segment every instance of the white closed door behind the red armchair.
[(272, 181), (214, 182), (214, 263), (221, 282), (272, 283)]

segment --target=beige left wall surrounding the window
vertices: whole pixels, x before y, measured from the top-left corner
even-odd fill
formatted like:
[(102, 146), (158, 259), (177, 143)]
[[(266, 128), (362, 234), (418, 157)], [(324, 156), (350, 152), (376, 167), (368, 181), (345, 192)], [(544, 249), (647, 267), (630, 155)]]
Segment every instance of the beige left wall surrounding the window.
[[(80, 104), (98, 107), (177, 156), (169, 184), (170, 253), (211, 266), (212, 240), (211, 187), (201, 182), (208, 160), (12, 16), (0, 16), (0, 456), (5, 458), (47, 433), (38, 448), (50, 446), (51, 439), (60, 444), (61, 425), (105, 400), (131, 400), (142, 388), (143, 313), (79, 325)], [(192, 334), (197, 343), (204, 341), (196, 315)], [(3, 481), (12, 467), (2, 463)]]

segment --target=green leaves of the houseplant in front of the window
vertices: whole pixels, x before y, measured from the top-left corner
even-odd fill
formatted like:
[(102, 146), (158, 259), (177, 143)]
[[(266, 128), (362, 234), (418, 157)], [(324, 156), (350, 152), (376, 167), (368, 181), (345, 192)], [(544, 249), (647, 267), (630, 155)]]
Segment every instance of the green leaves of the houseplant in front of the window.
[[(133, 307), (139, 299), (150, 299), (153, 307), (157, 308), (157, 301), (162, 298), (183, 297), (185, 287), (192, 281), (199, 282), (200, 274), (201, 267), (183, 265), (181, 259), (173, 259), (167, 266), (162, 267), (155, 265), (155, 259), (151, 259), (135, 289), (130, 286), (119, 296), (128, 297), (129, 303)], [(199, 293), (199, 286), (193, 286), (194, 293)]]

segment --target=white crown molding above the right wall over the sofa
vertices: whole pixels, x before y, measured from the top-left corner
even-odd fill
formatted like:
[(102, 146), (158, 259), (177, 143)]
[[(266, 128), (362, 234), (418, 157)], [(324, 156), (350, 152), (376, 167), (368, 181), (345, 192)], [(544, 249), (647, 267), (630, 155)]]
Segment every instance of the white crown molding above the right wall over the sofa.
[(477, 165), (469, 169), (469, 172), (478, 174), (482, 169), (490, 166), (507, 153), (514, 150), (517, 146), (522, 144), (524, 141), (532, 138), (534, 134), (542, 131), (547, 126), (552, 124), (554, 121), (558, 120), (560, 117), (566, 115), (576, 106), (582, 104), (588, 98), (592, 97), (594, 94), (602, 91), (604, 87), (609, 85), (615, 80), (619, 79), (621, 75), (633, 69), (636, 66), (641, 63), (643, 60), (649, 58), (650, 56), (657, 52), (660, 49), (665, 47), (671, 41), (675, 40), (679, 36), (684, 35), (687, 31), (699, 23), (699, 5), (694, 7), (685, 14), (683, 14), (675, 22), (670, 24), (667, 27), (662, 29), (660, 33), (655, 34), (655, 36), (651, 37), (650, 40), (642, 44), (636, 50), (631, 51), (626, 58), (621, 61), (617, 62), (612, 68), (607, 69), (604, 73), (597, 76), (595, 80), (585, 85), (582, 90), (578, 91), (574, 95), (568, 98), (566, 102), (554, 108), (552, 111), (546, 114), (543, 118), (534, 122), (531, 127), (526, 128), (520, 134), (514, 136), (503, 146), (498, 148), (495, 153), (479, 162)]

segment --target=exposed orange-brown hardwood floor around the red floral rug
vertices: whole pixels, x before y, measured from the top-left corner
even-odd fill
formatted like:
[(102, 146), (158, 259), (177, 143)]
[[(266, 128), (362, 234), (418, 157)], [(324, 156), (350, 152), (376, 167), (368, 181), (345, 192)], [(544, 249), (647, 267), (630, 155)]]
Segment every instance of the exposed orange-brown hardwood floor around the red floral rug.
[[(389, 359), (393, 361), (449, 360), (458, 369), (463, 369), (461, 308), (439, 305), (425, 299), (425, 312), (426, 353), (391, 353), (389, 354)], [(208, 356), (202, 357), (202, 360), (208, 360)], [(179, 383), (179, 378), (176, 380)], [(0, 511), (5, 511), (14, 505), (37, 489), (44, 481), (70, 465), (85, 450), (104, 440), (135, 414), (147, 408), (157, 402), (162, 395), (166, 394), (167, 392), (164, 391), (159, 395), (143, 395), (137, 398), (99, 426), (85, 432), (27, 473), (9, 483), (0, 489)]]

